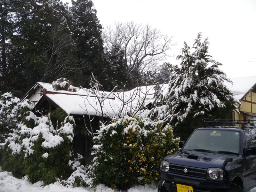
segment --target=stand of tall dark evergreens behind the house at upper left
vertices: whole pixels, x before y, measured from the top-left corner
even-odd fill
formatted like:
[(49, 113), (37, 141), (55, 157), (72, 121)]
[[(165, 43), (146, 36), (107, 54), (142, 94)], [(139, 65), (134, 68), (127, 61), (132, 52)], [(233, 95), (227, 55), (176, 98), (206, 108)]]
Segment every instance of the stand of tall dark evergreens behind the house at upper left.
[(114, 58), (114, 50), (111, 59), (105, 55), (91, 0), (72, 1), (72, 7), (60, 0), (7, 0), (0, 1), (0, 11), (2, 92), (22, 97), (37, 81), (60, 77), (86, 87), (91, 72), (105, 90), (112, 88), (117, 76), (111, 64), (117, 62), (121, 70), (122, 61)]

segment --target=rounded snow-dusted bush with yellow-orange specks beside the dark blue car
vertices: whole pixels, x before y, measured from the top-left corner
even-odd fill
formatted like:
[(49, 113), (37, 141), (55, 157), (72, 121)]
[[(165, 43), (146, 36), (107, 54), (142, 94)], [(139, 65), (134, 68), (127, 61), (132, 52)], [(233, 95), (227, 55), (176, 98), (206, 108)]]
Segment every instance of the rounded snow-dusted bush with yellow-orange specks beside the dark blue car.
[(148, 118), (124, 117), (102, 125), (94, 137), (95, 158), (90, 170), (89, 185), (105, 184), (127, 189), (135, 184), (149, 184), (159, 179), (159, 163), (164, 156), (178, 149), (172, 128)]

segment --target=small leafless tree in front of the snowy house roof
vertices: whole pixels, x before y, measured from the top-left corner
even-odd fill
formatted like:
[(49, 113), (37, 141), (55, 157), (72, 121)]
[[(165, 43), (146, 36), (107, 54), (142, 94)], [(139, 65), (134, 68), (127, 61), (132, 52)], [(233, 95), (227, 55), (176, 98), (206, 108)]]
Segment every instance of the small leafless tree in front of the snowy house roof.
[[(146, 102), (153, 102), (155, 96), (163, 91), (163, 85), (147, 85), (136, 87), (131, 91), (105, 92), (100, 90), (102, 86), (93, 74), (90, 85), (90, 89), (84, 89), (88, 92), (88, 96), (83, 96), (84, 103), (80, 107), (87, 112), (88, 118), (84, 118), (84, 125), (91, 137), (95, 136), (92, 122), (96, 116), (100, 116), (103, 124), (108, 124), (113, 119), (122, 118), (125, 115), (136, 116), (145, 107)], [(105, 120), (107, 119), (105, 122), (104, 117), (106, 117)]]

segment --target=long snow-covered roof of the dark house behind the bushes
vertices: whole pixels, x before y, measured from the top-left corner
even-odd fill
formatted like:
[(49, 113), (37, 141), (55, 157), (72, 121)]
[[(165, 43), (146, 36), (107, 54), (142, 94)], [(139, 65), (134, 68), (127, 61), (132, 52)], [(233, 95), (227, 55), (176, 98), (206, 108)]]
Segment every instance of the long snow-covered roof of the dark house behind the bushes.
[[(96, 97), (92, 91), (79, 88), (78, 92), (54, 91), (51, 84), (38, 83), (47, 91), (44, 97), (36, 103), (38, 108), (42, 100), (47, 99), (57, 107), (62, 108), (67, 114), (101, 116), (115, 116), (121, 112), (124, 116), (132, 113), (143, 103), (143, 107), (154, 101), (154, 86), (141, 86), (126, 92), (97, 92)], [(160, 85), (165, 94), (168, 84)], [(99, 102), (99, 100), (100, 102)], [(123, 108), (123, 110), (121, 110)]]

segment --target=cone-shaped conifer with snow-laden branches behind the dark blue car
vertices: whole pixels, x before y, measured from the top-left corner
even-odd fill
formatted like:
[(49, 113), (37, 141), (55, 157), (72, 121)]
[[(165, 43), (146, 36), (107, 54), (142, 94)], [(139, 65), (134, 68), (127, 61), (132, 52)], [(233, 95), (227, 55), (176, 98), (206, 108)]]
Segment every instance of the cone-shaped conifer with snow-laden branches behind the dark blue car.
[(182, 55), (177, 56), (181, 60), (180, 67), (169, 65), (171, 80), (164, 101), (172, 123), (182, 122), (188, 116), (206, 117), (223, 108), (228, 108), (229, 112), (237, 110), (239, 101), (223, 84), (232, 82), (220, 70), (222, 64), (208, 54), (208, 45), (208, 38), (202, 42), (202, 35), (198, 33), (191, 49), (184, 42)]

